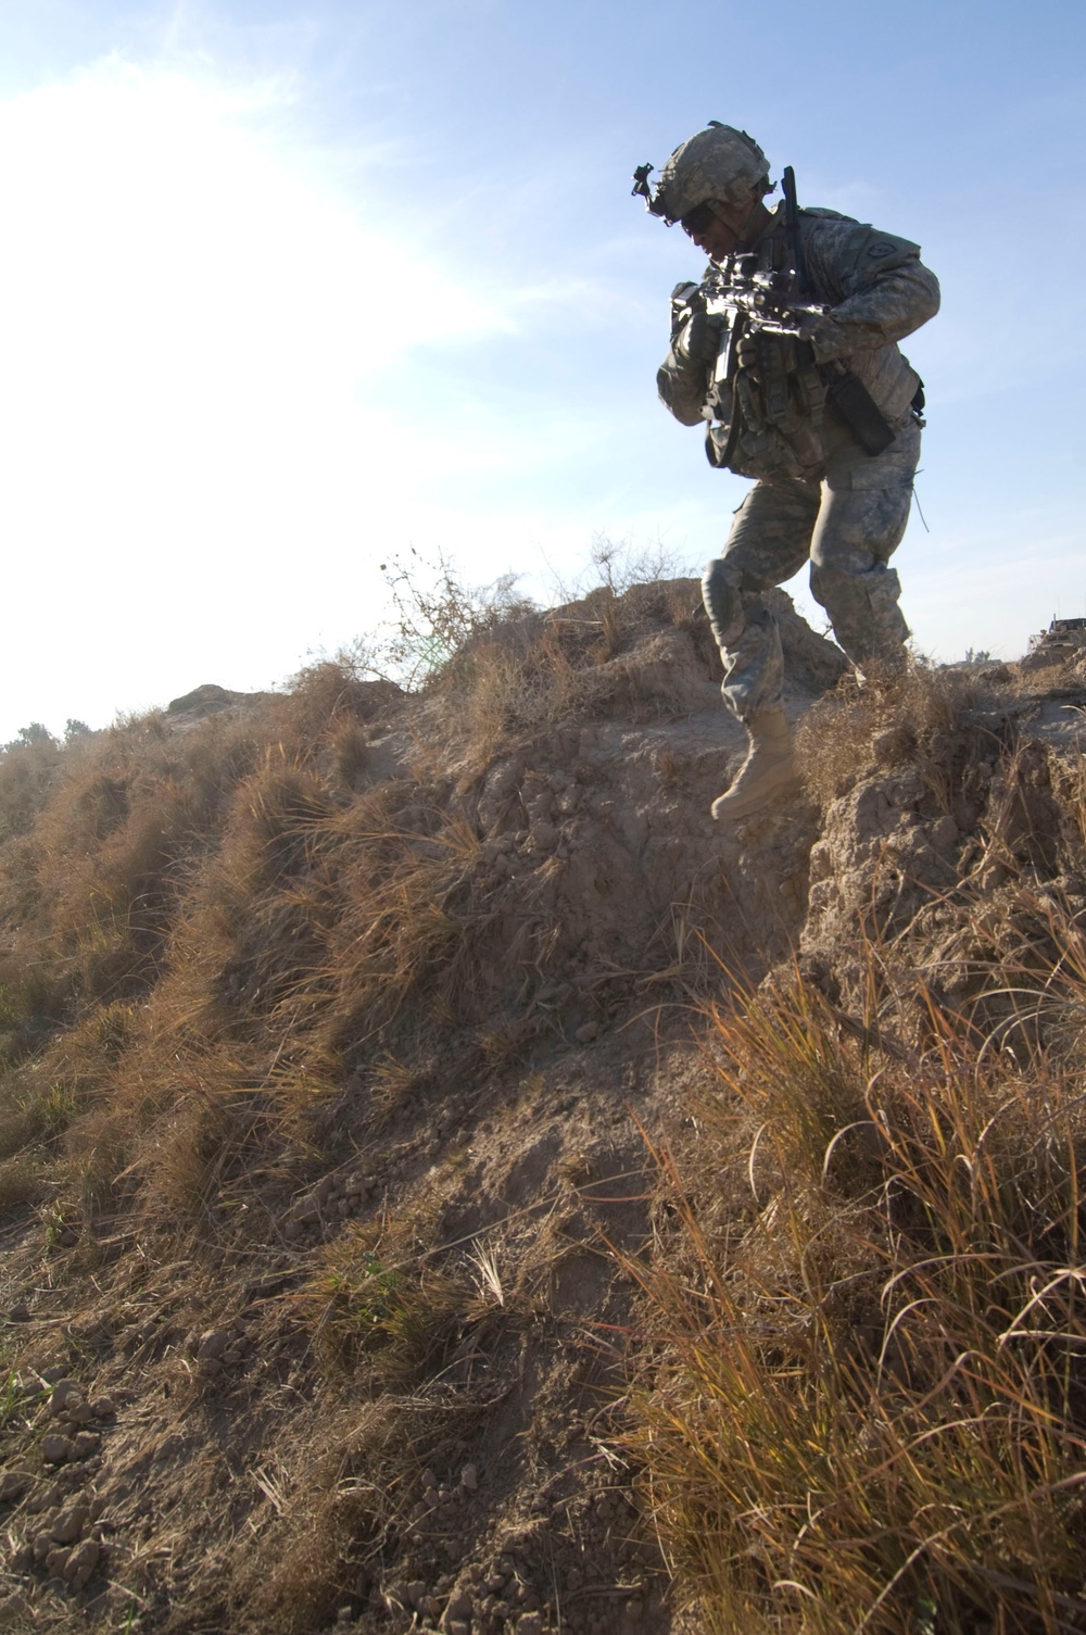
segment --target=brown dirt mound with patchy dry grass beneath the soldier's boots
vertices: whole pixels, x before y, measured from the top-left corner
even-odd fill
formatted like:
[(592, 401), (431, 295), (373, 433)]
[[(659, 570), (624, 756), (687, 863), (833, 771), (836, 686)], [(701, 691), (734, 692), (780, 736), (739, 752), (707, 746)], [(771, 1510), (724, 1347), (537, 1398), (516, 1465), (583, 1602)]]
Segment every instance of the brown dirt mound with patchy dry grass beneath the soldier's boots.
[(695, 598), (198, 688), (20, 819), (5, 1628), (682, 1624), (617, 1431), (693, 1006), (798, 960), (870, 1030), (862, 942), (952, 1002), (1025, 885), (1086, 904), (1075, 680), (857, 693), (775, 594), (808, 793), (721, 827)]

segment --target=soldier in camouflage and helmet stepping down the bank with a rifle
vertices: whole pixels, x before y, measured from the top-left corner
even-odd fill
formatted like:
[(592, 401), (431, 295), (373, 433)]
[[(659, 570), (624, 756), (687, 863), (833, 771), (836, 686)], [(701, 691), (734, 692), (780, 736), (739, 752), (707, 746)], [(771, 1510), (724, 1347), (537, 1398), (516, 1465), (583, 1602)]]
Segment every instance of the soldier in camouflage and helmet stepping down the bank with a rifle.
[(725, 703), (749, 737), (711, 808), (734, 819), (797, 778), (764, 590), (810, 558), (811, 594), (857, 670), (904, 669), (890, 558), (909, 515), (924, 394), (896, 342), (939, 311), (939, 284), (916, 244), (798, 209), (790, 170), (785, 204), (767, 209), (769, 164), (746, 131), (710, 123), (675, 149), (654, 191), (649, 170), (635, 173), (635, 193), (710, 257), (703, 283), (672, 296), (659, 396), (682, 425), (710, 422), (713, 464), (757, 479), (702, 580)]

